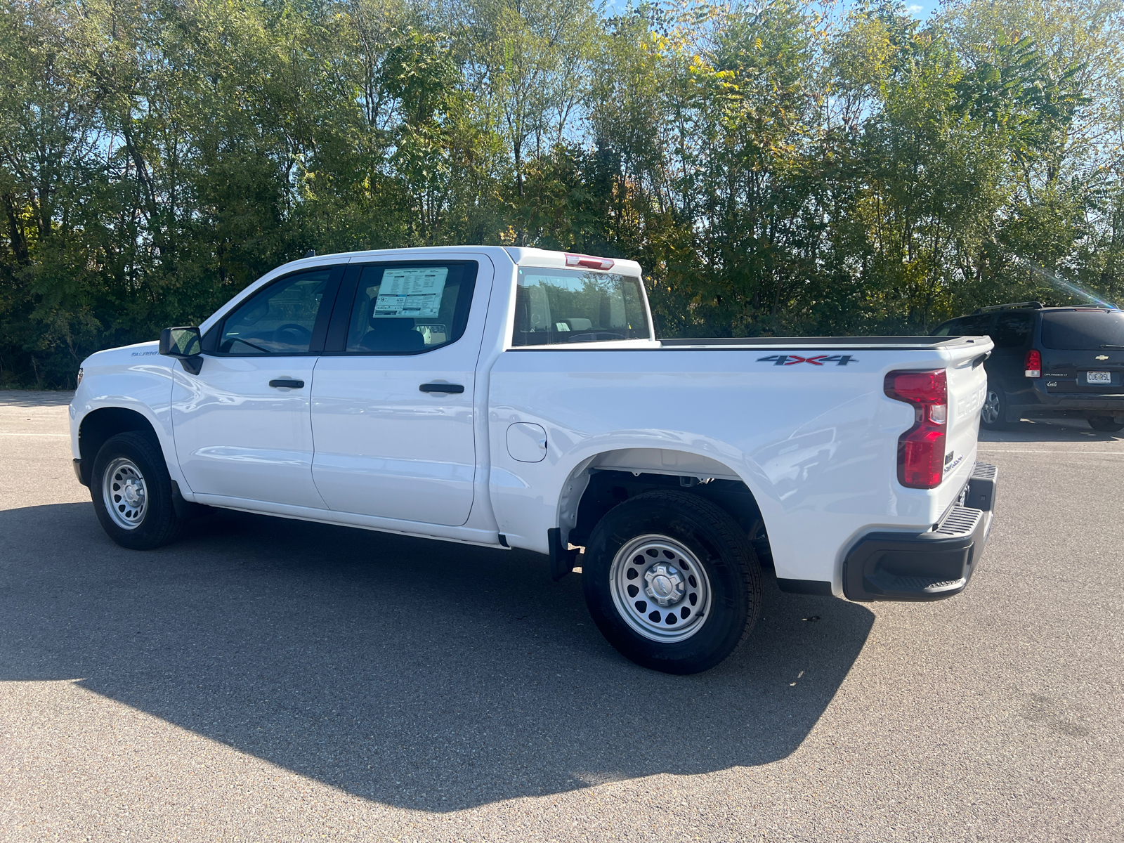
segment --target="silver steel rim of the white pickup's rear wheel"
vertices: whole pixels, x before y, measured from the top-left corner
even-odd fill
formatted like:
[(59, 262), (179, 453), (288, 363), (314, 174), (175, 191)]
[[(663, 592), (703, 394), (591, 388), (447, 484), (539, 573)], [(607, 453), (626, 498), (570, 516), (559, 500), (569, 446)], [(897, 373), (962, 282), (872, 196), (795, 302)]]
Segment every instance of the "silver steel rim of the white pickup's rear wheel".
[(687, 547), (668, 536), (637, 536), (620, 547), (609, 570), (620, 617), (650, 641), (686, 641), (710, 610), (710, 580)]

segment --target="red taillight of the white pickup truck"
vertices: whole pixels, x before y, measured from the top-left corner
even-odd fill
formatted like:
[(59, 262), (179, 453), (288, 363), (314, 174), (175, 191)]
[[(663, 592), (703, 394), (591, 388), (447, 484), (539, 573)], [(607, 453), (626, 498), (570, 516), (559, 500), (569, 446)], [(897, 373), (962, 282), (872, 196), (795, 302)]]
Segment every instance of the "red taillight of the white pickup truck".
[(890, 372), (886, 395), (912, 404), (914, 426), (898, 437), (898, 482), (933, 489), (944, 479), (944, 434), (949, 422), (949, 383), (935, 372)]

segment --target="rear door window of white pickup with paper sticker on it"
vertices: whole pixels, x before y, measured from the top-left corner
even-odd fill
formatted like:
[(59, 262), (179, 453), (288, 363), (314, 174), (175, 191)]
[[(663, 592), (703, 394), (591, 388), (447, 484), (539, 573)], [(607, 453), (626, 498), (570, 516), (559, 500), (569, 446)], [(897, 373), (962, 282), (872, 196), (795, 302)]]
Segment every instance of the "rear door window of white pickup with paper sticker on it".
[(382, 264), (359, 277), (346, 351), (416, 354), (455, 343), (469, 320), (477, 264)]

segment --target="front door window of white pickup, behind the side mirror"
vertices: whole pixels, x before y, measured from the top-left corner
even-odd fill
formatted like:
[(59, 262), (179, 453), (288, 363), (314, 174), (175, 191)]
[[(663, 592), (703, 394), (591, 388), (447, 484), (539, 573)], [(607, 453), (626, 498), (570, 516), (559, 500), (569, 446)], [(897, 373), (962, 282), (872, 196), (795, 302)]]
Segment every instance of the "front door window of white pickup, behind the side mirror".
[(226, 318), (219, 353), (307, 353), (330, 275), (330, 268), (300, 272), (251, 297)]

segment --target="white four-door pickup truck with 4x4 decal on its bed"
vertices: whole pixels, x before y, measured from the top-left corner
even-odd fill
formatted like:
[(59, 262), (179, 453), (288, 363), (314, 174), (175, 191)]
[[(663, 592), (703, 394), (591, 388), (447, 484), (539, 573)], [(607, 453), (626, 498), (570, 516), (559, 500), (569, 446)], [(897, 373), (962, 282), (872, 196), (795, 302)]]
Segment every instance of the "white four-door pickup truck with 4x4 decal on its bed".
[(762, 564), (851, 600), (964, 589), (995, 505), (976, 462), (990, 350), (659, 341), (632, 261), (324, 255), (87, 359), (74, 468), (125, 547), (225, 507), (523, 547), (555, 579), (580, 561), (609, 642), (689, 673), (747, 634)]

